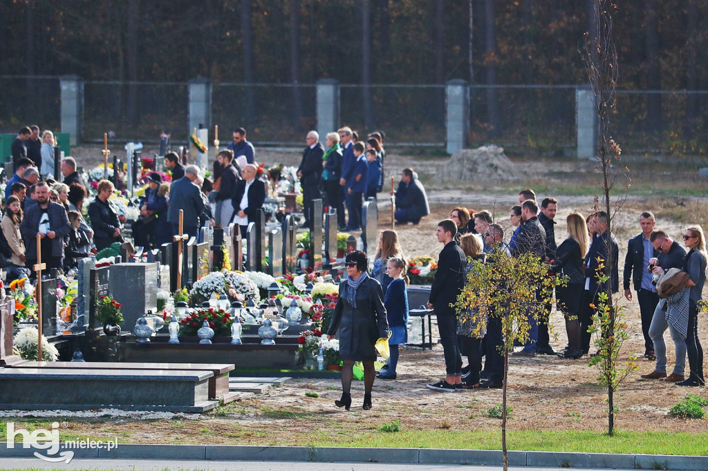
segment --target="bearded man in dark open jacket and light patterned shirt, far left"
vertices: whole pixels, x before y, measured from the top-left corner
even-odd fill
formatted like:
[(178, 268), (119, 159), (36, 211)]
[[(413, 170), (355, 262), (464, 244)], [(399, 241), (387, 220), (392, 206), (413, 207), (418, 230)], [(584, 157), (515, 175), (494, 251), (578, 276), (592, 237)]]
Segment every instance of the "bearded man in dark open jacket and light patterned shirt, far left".
[(49, 199), (49, 187), (40, 182), (35, 187), (37, 204), (25, 212), (20, 232), (25, 241), (25, 266), (32, 269), (37, 263), (37, 234), (41, 234), (42, 262), (47, 268), (62, 268), (64, 264), (64, 238), (69, 237), (69, 219), (61, 204)]

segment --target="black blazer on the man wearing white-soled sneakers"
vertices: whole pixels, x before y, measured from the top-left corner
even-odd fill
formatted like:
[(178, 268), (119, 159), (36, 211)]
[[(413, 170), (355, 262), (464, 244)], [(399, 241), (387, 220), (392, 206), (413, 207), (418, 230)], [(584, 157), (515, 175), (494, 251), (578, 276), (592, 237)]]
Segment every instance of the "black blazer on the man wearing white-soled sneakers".
[(438, 271), (435, 272), (433, 286), (430, 286), (430, 298), (428, 298), (428, 302), (435, 308), (436, 315), (455, 315), (455, 308), (450, 304), (457, 302), (457, 295), (464, 287), (465, 265), (467, 265), (467, 257), (455, 240), (447, 243), (440, 251)]

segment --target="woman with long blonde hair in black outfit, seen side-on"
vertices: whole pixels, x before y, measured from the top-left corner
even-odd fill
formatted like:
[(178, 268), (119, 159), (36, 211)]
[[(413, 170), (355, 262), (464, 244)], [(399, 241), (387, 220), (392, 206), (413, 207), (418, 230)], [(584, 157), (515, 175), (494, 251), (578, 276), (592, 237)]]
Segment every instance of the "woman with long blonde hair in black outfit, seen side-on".
[(583, 289), (585, 288), (583, 260), (588, 251), (588, 225), (583, 215), (577, 212), (569, 214), (566, 221), (568, 223), (568, 238), (556, 250), (556, 260), (552, 264), (552, 272), (568, 277), (566, 286), (556, 286), (556, 299), (566, 318), (566, 333), (568, 334), (568, 349), (559, 356), (574, 360), (583, 356), (580, 310)]

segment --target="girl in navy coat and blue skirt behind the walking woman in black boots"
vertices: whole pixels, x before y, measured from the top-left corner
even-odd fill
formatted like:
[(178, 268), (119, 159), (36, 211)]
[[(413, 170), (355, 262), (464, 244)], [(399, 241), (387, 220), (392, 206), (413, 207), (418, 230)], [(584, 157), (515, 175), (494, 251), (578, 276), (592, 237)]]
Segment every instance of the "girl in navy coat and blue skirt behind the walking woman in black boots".
[(408, 342), (408, 277), (406, 277), (406, 260), (401, 255), (390, 257), (386, 262), (386, 271), (393, 281), (386, 289), (384, 306), (386, 318), (389, 321), (389, 338), (391, 356), (387, 360), (389, 368), (378, 373), (382, 379), (396, 379), (396, 366), (399, 359), (399, 345)]

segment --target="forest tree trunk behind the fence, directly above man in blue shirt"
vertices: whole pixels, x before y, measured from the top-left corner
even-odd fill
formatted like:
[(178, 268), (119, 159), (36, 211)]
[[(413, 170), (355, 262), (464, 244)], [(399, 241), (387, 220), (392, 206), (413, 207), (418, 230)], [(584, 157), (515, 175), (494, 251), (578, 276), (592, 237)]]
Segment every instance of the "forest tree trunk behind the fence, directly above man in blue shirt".
[[(646, 0), (646, 86), (649, 90), (661, 89), (661, 71), (659, 64), (659, 35), (658, 0)], [(646, 124), (649, 133), (661, 131), (661, 95), (649, 93), (646, 97)]]

